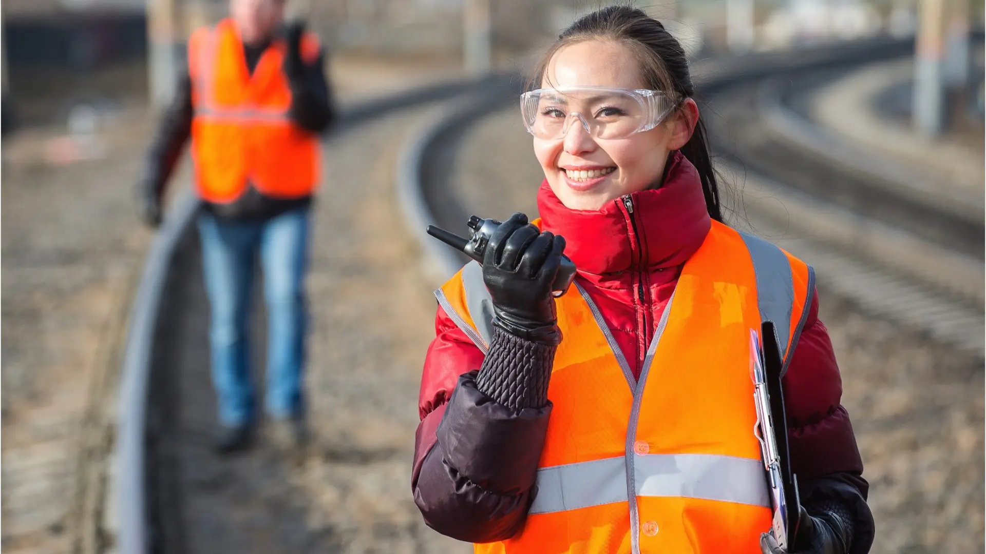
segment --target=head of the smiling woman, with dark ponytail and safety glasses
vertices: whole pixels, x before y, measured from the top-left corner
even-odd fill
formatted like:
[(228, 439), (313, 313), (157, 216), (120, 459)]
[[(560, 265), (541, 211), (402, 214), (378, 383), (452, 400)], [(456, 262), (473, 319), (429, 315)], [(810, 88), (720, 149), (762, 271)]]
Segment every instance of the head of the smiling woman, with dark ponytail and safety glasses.
[[(567, 206), (599, 209), (606, 200), (659, 186), (669, 154), (680, 151), (701, 177), (710, 215), (722, 221), (719, 187), (709, 157), (705, 127), (698, 105), (691, 98), (694, 86), (684, 50), (664, 26), (644, 17), (646, 21), (589, 16), (566, 30), (548, 50), (528, 86), (536, 86), (538, 90), (527, 93), (522, 100), (525, 123), (534, 136), (534, 153), (548, 184)], [(572, 90), (573, 86), (577, 89)], [(571, 98), (578, 88), (585, 87), (608, 90), (603, 98), (593, 98), (603, 102), (594, 104), (598, 111), (591, 113), (592, 117), (609, 118), (608, 131), (607, 126), (601, 126), (594, 132), (589, 121), (582, 120), (585, 134), (599, 142), (585, 140), (579, 129), (568, 133), (570, 119), (566, 119), (562, 134), (551, 136), (531, 129), (529, 108), (525, 104), (528, 98)], [(614, 104), (606, 105), (605, 101)], [(581, 104), (583, 109), (587, 107), (586, 103)], [(604, 107), (610, 109), (600, 112)], [(642, 136), (632, 136), (637, 133)], [(581, 172), (597, 166), (618, 171), (594, 183), (592, 190), (584, 187), (578, 190), (578, 185), (572, 189), (581, 194), (573, 194), (561, 186), (569, 184), (565, 179), (570, 176), (569, 170)]]

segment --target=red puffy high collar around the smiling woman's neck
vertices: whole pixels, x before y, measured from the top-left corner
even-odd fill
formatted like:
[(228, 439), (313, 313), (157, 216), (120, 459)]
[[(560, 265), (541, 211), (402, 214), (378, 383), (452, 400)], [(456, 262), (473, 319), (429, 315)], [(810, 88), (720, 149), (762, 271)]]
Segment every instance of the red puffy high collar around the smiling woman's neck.
[(675, 152), (660, 188), (629, 194), (599, 210), (572, 210), (545, 179), (537, 192), (541, 227), (565, 238), (565, 254), (580, 271), (604, 275), (683, 264), (711, 227), (695, 167)]

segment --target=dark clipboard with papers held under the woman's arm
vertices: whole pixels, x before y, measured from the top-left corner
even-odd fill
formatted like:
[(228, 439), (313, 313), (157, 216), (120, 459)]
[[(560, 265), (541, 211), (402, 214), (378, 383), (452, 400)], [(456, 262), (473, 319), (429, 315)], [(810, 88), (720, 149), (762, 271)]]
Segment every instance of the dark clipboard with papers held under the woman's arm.
[(750, 329), (750, 378), (756, 426), (753, 434), (760, 443), (772, 512), (771, 531), (785, 551), (794, 544), (798, 532), (800, 499), (797, 477), (791, 471), (788, 455), (787, 418), (781, 386), (780, 345), (772, 321), (764, 321), (758, 338)]

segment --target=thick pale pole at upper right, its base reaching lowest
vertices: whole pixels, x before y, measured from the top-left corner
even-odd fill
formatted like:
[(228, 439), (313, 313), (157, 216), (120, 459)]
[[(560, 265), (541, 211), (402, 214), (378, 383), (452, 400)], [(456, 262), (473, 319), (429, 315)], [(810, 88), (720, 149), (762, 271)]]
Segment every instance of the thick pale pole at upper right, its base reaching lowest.
[(927, 137), (937, 136), (945, 126), (945, 15), (946, 0), (921, 0), (911, 111), (915, 127)]

